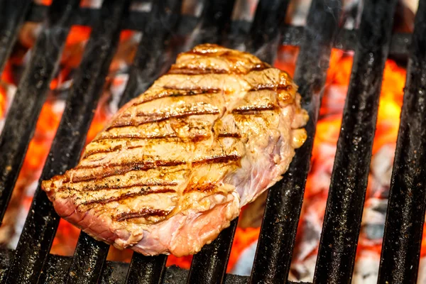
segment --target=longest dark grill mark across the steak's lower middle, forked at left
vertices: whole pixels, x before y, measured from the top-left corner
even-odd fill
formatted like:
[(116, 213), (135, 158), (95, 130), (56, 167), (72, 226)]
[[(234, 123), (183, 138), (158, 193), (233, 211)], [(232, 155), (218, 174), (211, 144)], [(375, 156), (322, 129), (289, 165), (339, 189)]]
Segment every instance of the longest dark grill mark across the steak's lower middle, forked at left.
[[(241, 156), (239, 155), (217, 155), (212, 157), (203, 158), (201, 160), (192, 161), (192, 165), (200, 165), (203, 163), (228, 163), (240, 160)], [(79, 165), (75, 170), (80, 169), (94, 169), (94, 168), (104, 168), (104, 171), (101, 175), (89, 175), (89, 176), (80, 176), (73, 177), (72, 182), (87, 182), (89, 180), (100, 180), (102, 178), (111, 177), (113, 175), (124, 175), (129, 173), (132, 170), (149, 170), (152, 168), (160, 167), (171, 167), (175, 165), (183, 165), (187, 162), (179, 160), (155, 160), (154, 162), (127, 162), (127, 163), (110, 163), (108, 168), (104, 168), (104, 165)], [(65, 180), (67, 182), (68, 180)]]

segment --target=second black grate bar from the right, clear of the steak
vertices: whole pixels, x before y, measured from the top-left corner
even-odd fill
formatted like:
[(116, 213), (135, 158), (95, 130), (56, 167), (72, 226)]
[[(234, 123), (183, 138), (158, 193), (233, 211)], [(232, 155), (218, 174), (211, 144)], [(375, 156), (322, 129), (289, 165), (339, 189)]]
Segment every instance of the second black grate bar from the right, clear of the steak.
[(366, 1), (337, 142), (315, 283), (350, 283), (395, 0)]

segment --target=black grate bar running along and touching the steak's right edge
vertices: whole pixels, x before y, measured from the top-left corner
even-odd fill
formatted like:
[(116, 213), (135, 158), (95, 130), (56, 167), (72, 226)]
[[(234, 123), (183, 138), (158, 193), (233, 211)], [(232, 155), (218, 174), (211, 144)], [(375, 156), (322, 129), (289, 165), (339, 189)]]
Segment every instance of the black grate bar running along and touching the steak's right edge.
[(339, 0), (314, 0), (307, 18), (305, 41), (297, 60), (295, 82), (307, 109), (307, 141), (297, 149), (283, 180), (271, 187), (266, 200), (250, 283), (285, 283), (290, 271), (297, 223), (302, 207), (318, 111), (332, 43), (337, 34)]

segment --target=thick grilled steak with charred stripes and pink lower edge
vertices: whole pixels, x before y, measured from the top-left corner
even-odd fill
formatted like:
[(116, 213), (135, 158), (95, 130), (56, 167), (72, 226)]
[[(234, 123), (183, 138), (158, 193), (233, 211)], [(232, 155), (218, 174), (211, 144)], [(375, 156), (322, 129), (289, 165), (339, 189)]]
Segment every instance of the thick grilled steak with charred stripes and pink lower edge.
[(282, 178), (307, 119), (287, 73), (197, 45), (42, 188), (61, 217), (118, 249), (197, 253)]

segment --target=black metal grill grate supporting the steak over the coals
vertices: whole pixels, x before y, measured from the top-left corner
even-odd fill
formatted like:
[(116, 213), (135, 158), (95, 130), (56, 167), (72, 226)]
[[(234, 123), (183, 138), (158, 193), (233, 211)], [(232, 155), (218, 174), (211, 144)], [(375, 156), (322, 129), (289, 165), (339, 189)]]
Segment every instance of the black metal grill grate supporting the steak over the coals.
[[(185, 1), (184, 1), (185, 2)], [(288, 0), (259, 0), (253, 21), (231, 21), (236, 1), (204, 1), (200, 16), (180, 13), (182, 1), (153, 1), (151, 11), (131, 1), (104, 0), (99, 9), (79, 0), (0, 2), (0, 67), (11, 55), (18, 31), (43, 22), (21, 75), (0, 136), (0, 220), (6, 208), (40, 111), (58, 70), (73, 25), (90, 26), (80, 67), (72, 75), (65, 109), (41, 178), (74, 166), (86, 142), (122, 30), (143, 33), (119, 106), (147, 89), (175, 55), (197, 43), (244, 48), (273, 63), (280, 45), (300, 48), (295, 82), (309, 111), (308, 138), (288, 173), (268, 192), (251, 275), (226, 274), (237, 220), (200, 253), (190, 271), (165, 268), (166, 256), (133, 254), (130, 265), (107, 261), (109, 246), (81, 233), (74, 256), (50, 254), (60, 218), (36, 186), (15, 250), (1, 250), (2, 283), (285, 283), (317, 130), (317, 118), (332, 48), (354, 50), (351, 80), (334, 158), (314, 283), (349, 283), (354, 271), (366, 197), (373, 136), (386, 59), (408, 58), (407, 80), (388, 197), (379, 283), (415, 283), (425, 220), (426, 1), (420, 0), (413, 33), (393, 33), (396, 0), (364, 1), (355, 30), (342, 28), (342, 3), (312, 0), (305, 26), (284, 23)], [(185, 40), (182, 40), (184, 39)]]

